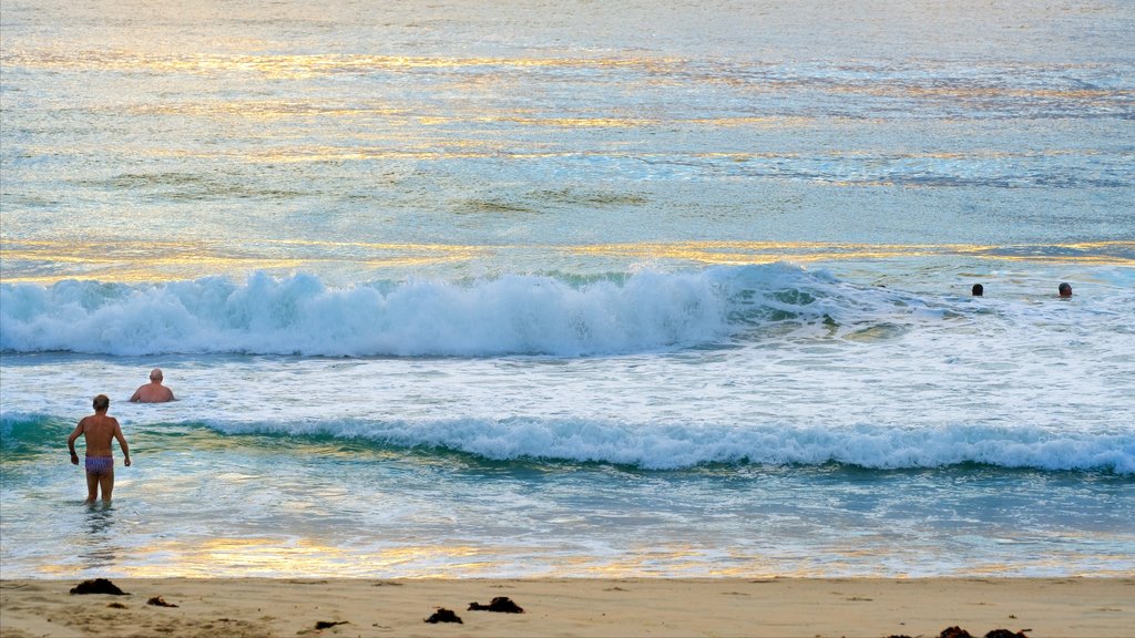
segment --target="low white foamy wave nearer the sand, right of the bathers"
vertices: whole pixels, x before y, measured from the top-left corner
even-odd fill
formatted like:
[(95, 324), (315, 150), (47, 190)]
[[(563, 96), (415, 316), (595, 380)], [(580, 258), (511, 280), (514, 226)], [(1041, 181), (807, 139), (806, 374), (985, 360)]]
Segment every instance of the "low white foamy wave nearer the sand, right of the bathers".
[(213, 423), (227, 434), (359, 438), (396, 447), (444, 448), (486, 459), (603, 462), (646, 469), (707, 463), (872, 469), (981, 463), (1001, 468), (1135, 473), (1135, 431), (1053, 431), (1035, 427), (637, 425), (581, 420)]

